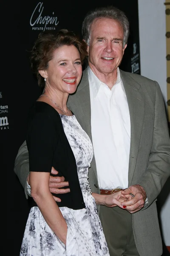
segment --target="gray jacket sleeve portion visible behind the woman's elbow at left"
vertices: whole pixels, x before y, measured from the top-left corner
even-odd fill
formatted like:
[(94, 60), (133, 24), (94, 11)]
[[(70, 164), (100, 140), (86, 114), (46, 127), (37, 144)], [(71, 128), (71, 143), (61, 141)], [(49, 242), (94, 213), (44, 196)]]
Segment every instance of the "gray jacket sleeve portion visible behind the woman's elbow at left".
[(18, 154), (14, 163), (14, 172), (19, 178), (20, 183), (24, 188), (26, 198), (28, 199), (27, 177), (29, 175), (29, 155), (26, 140), (23, 142), (18, 150)]

